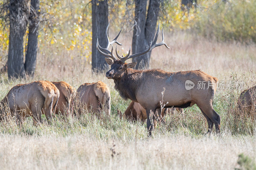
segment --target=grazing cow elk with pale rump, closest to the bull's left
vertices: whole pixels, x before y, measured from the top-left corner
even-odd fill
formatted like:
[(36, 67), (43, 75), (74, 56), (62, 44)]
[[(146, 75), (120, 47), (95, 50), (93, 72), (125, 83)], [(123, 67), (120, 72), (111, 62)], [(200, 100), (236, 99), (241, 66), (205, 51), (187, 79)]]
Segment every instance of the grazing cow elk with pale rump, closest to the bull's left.
[(105, 83), (84, 83), (78, 87), (77, 94), (81, 104), (86, 104), (93, 112), (99, 114), (106, 107), (107, 114), (110, 115), (110, 91)]

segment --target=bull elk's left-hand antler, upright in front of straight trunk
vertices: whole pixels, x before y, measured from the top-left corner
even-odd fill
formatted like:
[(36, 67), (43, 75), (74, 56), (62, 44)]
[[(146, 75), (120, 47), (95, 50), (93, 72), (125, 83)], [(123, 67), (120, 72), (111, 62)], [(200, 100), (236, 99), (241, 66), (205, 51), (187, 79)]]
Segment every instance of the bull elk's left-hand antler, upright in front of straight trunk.
[[(109, 26), (109, 24), (110, 24), (110, 23), (108, 23), (108, 26)], [(115, 55), (113, 55), (113, 44), (116, 43), (116, 44), (118, 44), (118, 45), (123, 45), (122, 43), (120, 43), (120, 42), (117, 41), (117, 38), (118, 38), (118, 36), (120, 35), (120, 33), (121, 33), (121, 31), (122, 31), (122, 28), (121, 28), (121, 30), (119, 31), (119, 33), (117, 34), (116, 38), (115, 38), (113, 41), (110, 42), (109, 39), (108, 39), (108, 26), (107, 26), (107, 28), (106, 28), (106, 39), (107, 39), (107, 41), (108, 41), (107, 47), (106, 47), (106, 48), (100, 47), (99, 41), (98, 41), (98, 38), (97, 38), (97, 49), (98, 49), (98, 51), (100, 52), (100, 54), (105, 55), (105, 56), (108, 57), (108, 58), (112, 58), (113, 60), (116, 60)], [(110, 45), (112, 46), (111, 52), (108, 50), (108, 48), (109, 48)]]

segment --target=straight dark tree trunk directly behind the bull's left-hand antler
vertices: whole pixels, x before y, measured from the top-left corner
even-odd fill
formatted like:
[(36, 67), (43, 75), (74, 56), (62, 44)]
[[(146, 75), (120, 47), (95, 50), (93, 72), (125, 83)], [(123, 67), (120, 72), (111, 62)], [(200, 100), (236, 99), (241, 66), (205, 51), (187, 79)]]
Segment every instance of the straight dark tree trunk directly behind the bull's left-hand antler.
[(107, 69), (104, 56), (96, 48), (97, 39), (103, 48), (107, 46), (105, 36), (108, 26), (108, 0), (92, 0), (92, 71), (101, 72)]

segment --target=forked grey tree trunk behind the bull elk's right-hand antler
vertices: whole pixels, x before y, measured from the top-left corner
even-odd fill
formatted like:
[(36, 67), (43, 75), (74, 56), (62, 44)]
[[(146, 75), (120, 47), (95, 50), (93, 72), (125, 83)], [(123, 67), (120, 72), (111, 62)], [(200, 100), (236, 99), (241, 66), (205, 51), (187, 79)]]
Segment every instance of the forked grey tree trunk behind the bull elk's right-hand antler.
[[(135, 26), (132, 37), (132, 54), (147, 49), (153, 41), (161, 0), (150, 0), (146, 19), (147, 0), (135, 0)], [(149, 67), (151, 52), (132, 58), (135, 69)]]

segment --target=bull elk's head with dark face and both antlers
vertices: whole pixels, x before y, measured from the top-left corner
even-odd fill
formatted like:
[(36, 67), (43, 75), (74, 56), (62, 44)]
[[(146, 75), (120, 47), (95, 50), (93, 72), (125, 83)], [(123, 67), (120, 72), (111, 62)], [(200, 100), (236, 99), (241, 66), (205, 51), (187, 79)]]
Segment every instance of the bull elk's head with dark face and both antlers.
[[(109, 24), (108, 24), (108, 26), (109, 26)], [(98, 51), (102, 55), (108, 57), (108, 58), (105, 58), (105, 60), (111, 66), (110, 70), (108, 70), (108, 72), (106, 73), (106, 77), (108, 79), (116, 79), (116, 78), (120, 77), (124, 73), (125, 70), (133, 68), (137, 64), (137, 63), (125, 63), (126, 60), (128, 60), (130, 58), (133, 58), (133, 57), (143, 55), (143, 54), (151, 51), (153, 48), (161, 46), (161, 45), (164, 45), (166, 48), (169, 48), (164, 42), (164, 29), (163, 29), (163, 27), (162, 27), (162, 37), (163, 37), (163, 39), (160, 43), (156, 43), (157, 38), (158, 38), (158, 34), (159, 34), (159, 30), (160, 30), (159, 22), (158, 22), (158, 28), (157, 28), (155, 39), (154, 39), (153, 42), (151, 41), (150, 46), (146, 50), (144, 50), (142, 52), (139, 52), (139, 53), (136, 53), (136, 54), (130, 55), (130, 52), (131, 52), (131, 46), (130, 46), (128, 54), (125, 57), (123, 57), (123, 55), (122, 56), (118, 55), (117, 45), (116, 45), (116, 56), (118, 57), (118, 59), (117, 59), (116, 56), (113, 54), (113, 44), (116, 43), (118, 45), (123, 45), (122, 43), (119, 43), (117, 41), (117, 38), (118, 38), (119, 34), (121, 33), (122, 29), (117, 34), (116, 38), (113, 41), (110, 42), (109, 39), (108, 39), (108, 26), (107, 26), (107, 29), (106, 29), (106, 39), (108, 41), (107, 47), (106, 48), (100, 47), (98, 39), (97, 39), (97, 49), (98, 49)], [(108, 50), (110, 45), (112, 47), (111, 51)]]

